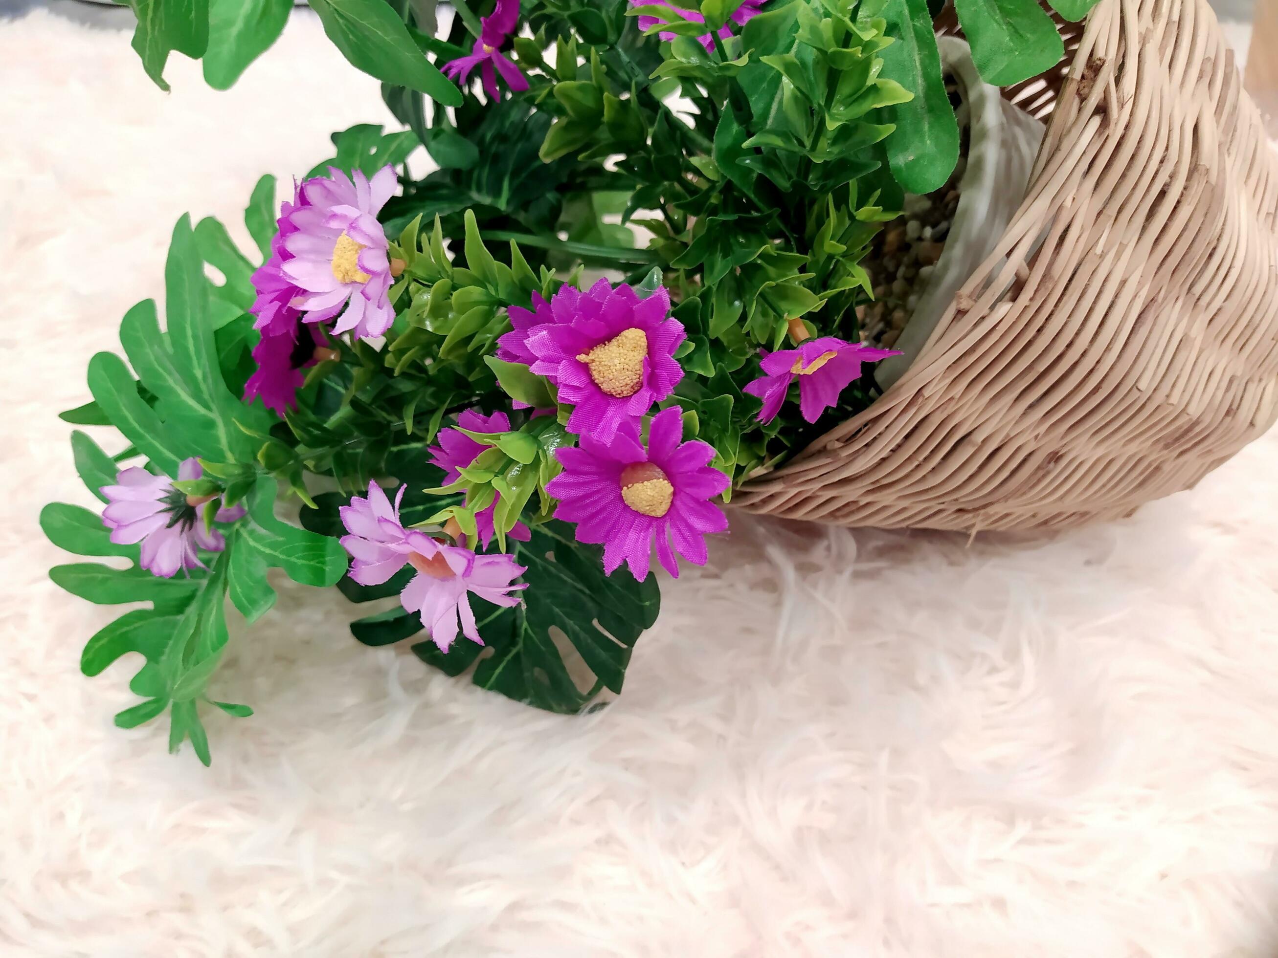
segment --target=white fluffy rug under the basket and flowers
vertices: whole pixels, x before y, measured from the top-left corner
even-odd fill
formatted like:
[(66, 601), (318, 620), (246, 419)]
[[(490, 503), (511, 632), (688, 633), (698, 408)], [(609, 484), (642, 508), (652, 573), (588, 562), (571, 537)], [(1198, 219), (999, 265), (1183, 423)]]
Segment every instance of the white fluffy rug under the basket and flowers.
[(308, 13), (230, 93), (45, 11), (0, 64), (0, 954), (1278, 954), (1278, 434), (1054, 540), (736, 517), (587, 718), (281, 585), (212, 769), (115, 729), (132, 669), (77, 668), (114, 611), (36, 525), (92, 505), (54, 414), (181, 212), (242, 230), (385, 111)]

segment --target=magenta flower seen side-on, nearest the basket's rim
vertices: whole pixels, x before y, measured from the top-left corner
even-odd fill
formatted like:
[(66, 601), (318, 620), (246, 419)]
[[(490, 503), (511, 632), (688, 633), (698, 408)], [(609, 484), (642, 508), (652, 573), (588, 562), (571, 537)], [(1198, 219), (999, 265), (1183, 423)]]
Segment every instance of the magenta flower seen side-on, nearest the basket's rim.
[(763, 376), (745, 386), (745, 392), (763, 400), (758, 420), (769, 423), (781, 411), (786, 391), (799, 377), (799, 410), (809, 423), (838, 402), (847, 384), (861, 376), (861, 363), (877, 363), (901, 355), (895, 349), (874, 349), (833, 336), (805, 340), (797, 349), (778, 349), (766, 354), (759, 367)]

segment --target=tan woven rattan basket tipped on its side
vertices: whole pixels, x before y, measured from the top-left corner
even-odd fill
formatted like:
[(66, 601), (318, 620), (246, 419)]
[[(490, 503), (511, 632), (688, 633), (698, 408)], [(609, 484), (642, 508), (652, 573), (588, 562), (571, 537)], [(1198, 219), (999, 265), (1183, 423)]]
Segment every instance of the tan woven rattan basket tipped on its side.
[(996, 252), (892, 388), (734, 505), (1070, 526), (1194, 485), (1274, 422), (1278, 160), (1206, 0), (1102, 0), (1066, 40), (1010, 92), (1051, 116)]

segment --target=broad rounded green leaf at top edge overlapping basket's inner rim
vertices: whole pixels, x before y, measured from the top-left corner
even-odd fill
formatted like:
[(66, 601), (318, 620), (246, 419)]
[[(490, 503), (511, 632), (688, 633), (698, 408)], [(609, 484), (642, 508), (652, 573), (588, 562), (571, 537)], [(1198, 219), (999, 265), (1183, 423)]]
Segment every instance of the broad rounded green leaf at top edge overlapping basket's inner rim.
[(996, 87), (1049, 70), (1065, 56), (1056, 24), (1038, 0), (955, 0), (982, 79)]

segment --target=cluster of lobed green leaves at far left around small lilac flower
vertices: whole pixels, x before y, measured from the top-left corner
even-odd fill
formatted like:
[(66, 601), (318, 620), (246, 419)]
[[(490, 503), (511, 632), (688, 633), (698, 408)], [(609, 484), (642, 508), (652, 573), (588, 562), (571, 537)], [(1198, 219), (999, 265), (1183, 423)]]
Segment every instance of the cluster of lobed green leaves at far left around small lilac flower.
[[(253, 226), (262, 238), (262, 224)], [(100, 499), (106, 498), (102, 487), (112, 485), (120, 465), (130, 460), (176, 476), (184, 460), (198, 457), (207, 473), (234, 475), (233, 482), (206, 480), (199, 488), (196, 483), (183, 488), (192, 493), (216, 489), (219, 499), (207, 507), (210, 511), (219, 503), (248, 510), (244, 519), (225, 529), (225, 551), (207, 556), (207, 568), (158, 579), (141, 568), (138, 545), (110, 540), (97, 513), (66, 503), (52, 503), (41, 513), (45, 534), (68, 552), (132, 561), (128, 568), (97, 562), (58, 566), (50, 572), (58, 585), (100, 604), (150, 604), (124, 613), (84, 646), (81, 664), (88, 676), (125, 653), (137, 651), (146, 659), (129, 686), (143, 701), (119, 713), (116, 724), (133, 727), (167, 710), (170, 749), (189, 738), (204, 764), (210, 760), (208, 738), (199, 704), (210, 703), (231, 715), (252, 711), (245, 705), (216, 701), (207, 692), (229, 637), (225, 599), (252, 622), (275, 603), (267, 567), (282, 568), (307, 585), (332, 585), (346, 566), (335, 540), (275, 517), (277, 484), (259, 468), (254, 439), (254, 433), (270, 428), (270, 416), (261, 407), (243, 405), (227, 384), (239, 376), (247, 345), (244, 331), (236, 328), (236, 319), (244, 317), (226, 298), (244, 295), (247, 275), (224, 255), (224, 236), (216, 221), (204, 221), (196, 230), (187, 217), (178, 222), (165, 268), (166, 328), (160, 330), (153, 301), (130, 309), (120, 324), (129, 363), (112, 353), (93, 356), (88, 369), (93, 402), (68, 418), (112, 425), (129, 442), (112, 457), (87, 434), (73, 434), (75, 468)], [(207, 258), (202, 249), (208, 250)], [(243, 261), (238, 250), (235, 257)], [(221, 264), (224, 285), (213, 286), (206, 278), (206, 259)]]

